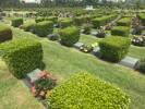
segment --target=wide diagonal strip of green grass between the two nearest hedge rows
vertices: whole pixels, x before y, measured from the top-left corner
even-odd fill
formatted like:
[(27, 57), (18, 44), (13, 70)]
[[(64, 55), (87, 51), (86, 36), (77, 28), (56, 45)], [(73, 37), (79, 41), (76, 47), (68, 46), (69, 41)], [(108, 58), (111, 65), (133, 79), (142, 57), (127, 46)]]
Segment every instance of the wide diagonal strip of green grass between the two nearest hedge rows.
[[(15, 38), (36, 37), (29, 33), (13, 29)], [(131, 69), (98, 60), (94, 56), (67, 48), (46, 38), (38, 38), (44, 48), (46, 70), (53, 73), (59, 82), (81, 71), (89, 72), (126, 92), (132, 99), (131, 109), (145, 108), (145, 76)]]

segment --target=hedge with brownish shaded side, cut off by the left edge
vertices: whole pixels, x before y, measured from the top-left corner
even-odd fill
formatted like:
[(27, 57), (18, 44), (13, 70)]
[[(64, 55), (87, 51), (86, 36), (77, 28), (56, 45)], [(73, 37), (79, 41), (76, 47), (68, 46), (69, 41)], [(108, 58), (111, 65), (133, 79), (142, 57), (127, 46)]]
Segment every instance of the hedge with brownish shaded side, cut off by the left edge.
[(0, 43), (12, 39), (12, 31), (5, 25), (0, 25)]

